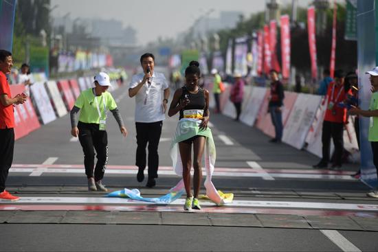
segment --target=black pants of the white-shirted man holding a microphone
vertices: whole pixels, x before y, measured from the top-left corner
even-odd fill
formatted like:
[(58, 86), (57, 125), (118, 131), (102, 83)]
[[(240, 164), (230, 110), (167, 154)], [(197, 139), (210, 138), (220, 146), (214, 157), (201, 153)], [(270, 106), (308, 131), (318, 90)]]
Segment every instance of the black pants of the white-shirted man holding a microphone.
[(140, 169), (146, 168), (146, 146), (148, 143), (148, 178), (157, 178), (159, 168), (160, 135), (162, 135), (163, 122), (135, 122), (137, 129), (137, 157), (135, 165)]

